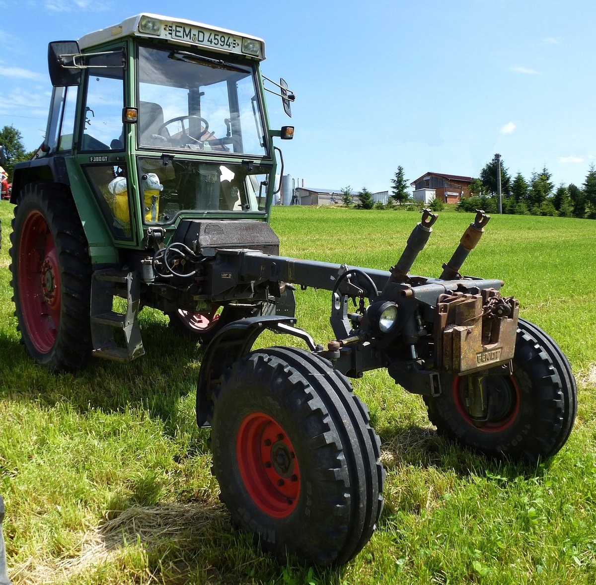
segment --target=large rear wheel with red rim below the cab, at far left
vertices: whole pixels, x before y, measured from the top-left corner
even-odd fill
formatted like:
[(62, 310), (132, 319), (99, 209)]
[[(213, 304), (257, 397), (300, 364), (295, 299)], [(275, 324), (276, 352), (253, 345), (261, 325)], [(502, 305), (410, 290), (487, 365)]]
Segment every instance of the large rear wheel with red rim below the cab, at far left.
[(82, 367), (91, 354), (91, 262), (70, 194), (55, 185), (27, 185), (10, 239), (22, 343), (52, 371)]

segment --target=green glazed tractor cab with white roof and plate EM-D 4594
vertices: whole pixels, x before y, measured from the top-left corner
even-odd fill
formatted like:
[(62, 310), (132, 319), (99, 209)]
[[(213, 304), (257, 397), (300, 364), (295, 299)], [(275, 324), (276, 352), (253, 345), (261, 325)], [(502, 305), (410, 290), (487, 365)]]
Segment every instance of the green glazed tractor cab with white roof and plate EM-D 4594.
[(167, 243), (185, 218), (268, 220), (281, 131), (267, 122), (262, 39), (140, 14), (50, 43), (48, 58), (38, 158), (76, 161), (69, 175), (103, 217), (96, 238), (142, 248), (148, 234)]

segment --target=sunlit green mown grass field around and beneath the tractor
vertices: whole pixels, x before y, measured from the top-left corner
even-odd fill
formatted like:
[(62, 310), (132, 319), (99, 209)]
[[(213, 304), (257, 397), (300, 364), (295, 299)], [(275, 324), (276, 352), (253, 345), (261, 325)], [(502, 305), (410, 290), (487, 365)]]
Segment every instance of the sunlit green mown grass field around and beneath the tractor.
[[(420, 397), (383, 372), (356, 380), (383, 441), (386, 506), (346, 567), (281, 566), (234, 530), (194, 421), (202, 351), (144, 309), (147, 355), (51, 375), (19, 343), (0, 202), (0, 493), (15, 584), (594, 583), (596, 222), (493, 217), (464, 272), (505, 280), (524, 318), (569, 357), (575, 429), (538, 466), (495, 462), (437, 437)], [(436, 276), (473, 216), (443, 213), (412, 272)], [(281, 253), (389, 269), (418, 221), (405, 211), (277, 208)], [(333, 338), (330, 294), (299, 292), (298, 325)], [(268, 334), (261, 346), (292, 344)]]

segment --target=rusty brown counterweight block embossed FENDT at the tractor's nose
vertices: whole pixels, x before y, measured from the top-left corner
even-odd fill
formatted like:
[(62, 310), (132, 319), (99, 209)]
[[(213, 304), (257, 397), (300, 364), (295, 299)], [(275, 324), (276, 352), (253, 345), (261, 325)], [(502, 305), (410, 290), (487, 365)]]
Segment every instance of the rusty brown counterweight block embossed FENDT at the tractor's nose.
[(436, 368), (469, 374), (513, 358), (519, 303), (489, 288), (441, 295), (436, 307)]

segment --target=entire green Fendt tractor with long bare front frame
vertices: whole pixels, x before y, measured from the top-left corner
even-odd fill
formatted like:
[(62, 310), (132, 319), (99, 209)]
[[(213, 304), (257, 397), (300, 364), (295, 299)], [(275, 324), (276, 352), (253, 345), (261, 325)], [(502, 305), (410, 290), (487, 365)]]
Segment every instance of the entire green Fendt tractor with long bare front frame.
[[(348, 376), (386, 368), (443, 435), (530, 460), (563, 446), (577, 391), (503, 282), (461, 275), (483, 211), (440, 278), (409, 274), (428, 210), (390, 270), (278, 255), (273, 140), (293, 127), (269, 127), (264, 84), (288, 114), (294, 97), (264, 58), (254, 36), (153, 14), (50, 43), (46, 137), (13, 179), (15, 314), (52, 371), (142, 356), (143, 306), (203, 341), (197, 423), (232, 519), (283, 561), (339, 565), (383, 508), (380, 440)], [(297, 287), (331, 293), (326, 346), (296, 326)], [(252, 351), (265, 329), (308, 350)]]

